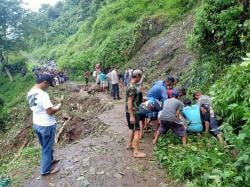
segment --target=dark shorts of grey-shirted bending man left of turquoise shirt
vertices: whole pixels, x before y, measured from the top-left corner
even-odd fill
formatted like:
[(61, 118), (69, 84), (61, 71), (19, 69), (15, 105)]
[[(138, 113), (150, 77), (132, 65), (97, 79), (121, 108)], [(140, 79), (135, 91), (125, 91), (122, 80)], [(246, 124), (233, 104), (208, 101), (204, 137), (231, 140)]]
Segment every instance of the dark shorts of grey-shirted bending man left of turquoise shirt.
[(162, 121), (159, 127), (160, 134), (165, 134), (171, 129), (177, 136), (186, 136), (186, 128), (182, 124), (178, 124), (172, 121)]

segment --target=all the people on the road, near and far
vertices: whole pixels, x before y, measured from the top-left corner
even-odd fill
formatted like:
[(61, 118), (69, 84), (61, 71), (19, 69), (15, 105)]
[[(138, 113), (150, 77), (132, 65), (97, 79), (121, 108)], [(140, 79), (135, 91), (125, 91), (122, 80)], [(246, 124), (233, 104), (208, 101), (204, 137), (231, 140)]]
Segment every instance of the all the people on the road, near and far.
[[(213, 134), (224, 144), (212, 101), (208, 96), (195, 92), (192, 101), (186, 96), (185, 89), (176, 89), (178, 77), (168, 76), (166, 80), (156, 81), (143, 97), (142, 70), (129, 68), (127, 71), (129, 76), (126, 75), (123, 79), (126, 85), (126, 119), (129, 128), (127, 149), (133, 150), (135, 158), (146, 157), (146, 154), (140, 151), (139, 143), (144, 131), (149, 127), (154, 130), (153, 144), (170, 129), (181, 138), (183, 145), (187, 144), (187, 135), (202, 132)], [(65, 75), (55, 71), (48, 72), (46, 69), (36, 69), (33, 72), (36, 75), (36, 84), (29, 91), (27, 100), (33, 112), (33, 127), (42, 146), (41, 175), (44, 176), (59, 171), (55, 166), (59, 160), (53, 157), (53, 147), (56, 134), (54, 115), (61, 106), (54, 106), (46, 91), (49, 86), (55, 86), (57, 81), (65, 82)], [(86, 78), (89, 78), (89, 75), (89, 72), (84, 74)], [(113, 99), (121, 99), (119, 77), (122, 76), (119, 76), (116, 68), (104, 72), (97, 64), (93, 76), (102, 91), (110, 87)]]

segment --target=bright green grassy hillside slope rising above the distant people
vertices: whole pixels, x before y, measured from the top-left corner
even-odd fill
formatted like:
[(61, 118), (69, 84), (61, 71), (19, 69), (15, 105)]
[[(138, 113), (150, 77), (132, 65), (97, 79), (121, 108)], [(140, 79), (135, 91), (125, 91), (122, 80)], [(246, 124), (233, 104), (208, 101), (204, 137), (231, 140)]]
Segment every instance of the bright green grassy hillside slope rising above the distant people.
[[(77, 1), (77, 6), (85, 1)], [(86, 3), (89, 1), (86, 1)], [(55, 25), (68, 16), (62, 12), (57, 20), (50, 24), (49, 31), (55, 33), (42, 47), (34, 50), (38, 58), (56, 58), (61, 69), (68, 70), (75, 78), (81, 76), (83, 69), (92, 68), (95, 63), (101, 63), (109, 68), (116, 64), (123, 66), (152, 36), (159, 34), (174, 21), (185, 16), (197, 4), (196, 0), (118, 0), (91, 1), (86, 7), (91, 12), (84, 14), (82, 22), (71, 23), (78, 26), (76, 34), (71, 35), (63, 44), (60, 33), (67, 32), (68, 27)], [(69, 6), (65, 4), (65, 8)], [(93, 12), (93, 7), (98, 8)], [(80, 6), (81, 7), (81, 6)], [(86, 8), (85, 7), (85, 8)], [(72, 8), (71, 11), (74, 9)], [(67, 13), (67, 14), (66, 14)], [(81, 14), (79, 14), (81, 15)], [(65, 31), (66, 29), (66, 31)], [(64, 36), (65, 38), (66, 36)]]

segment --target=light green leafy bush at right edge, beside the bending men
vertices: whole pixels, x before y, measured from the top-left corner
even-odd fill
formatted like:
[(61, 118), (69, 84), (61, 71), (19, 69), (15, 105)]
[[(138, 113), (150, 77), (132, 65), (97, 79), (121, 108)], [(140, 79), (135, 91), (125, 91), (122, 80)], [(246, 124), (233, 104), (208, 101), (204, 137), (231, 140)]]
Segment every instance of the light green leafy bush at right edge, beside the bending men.
[(235, 167), (240, 185), (250, 184), (250, 54), (232, 65), (211, 88), (214, 108), (224, 118), (225, 139), (239, 152)]

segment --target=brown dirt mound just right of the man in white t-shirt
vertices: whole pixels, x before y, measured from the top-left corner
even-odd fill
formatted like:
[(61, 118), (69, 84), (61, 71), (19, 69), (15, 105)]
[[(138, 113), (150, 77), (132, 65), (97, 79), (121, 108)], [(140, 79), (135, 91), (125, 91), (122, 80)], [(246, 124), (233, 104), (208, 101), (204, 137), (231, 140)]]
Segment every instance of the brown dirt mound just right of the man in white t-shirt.
[(88, 94), (88, 89), (78, 86), (71, 89), (69, 97), (63, 99), (62, 111), (57, 116), (57, 143), (72, 143), (89, 135), (98, 135), (105, 129), (96, 116), (111, 105), (98, 95)]

